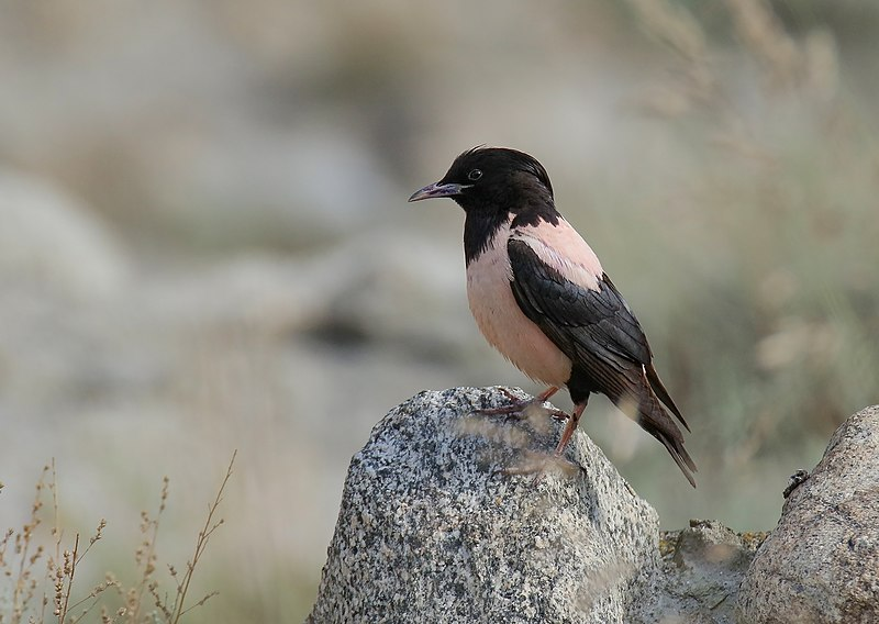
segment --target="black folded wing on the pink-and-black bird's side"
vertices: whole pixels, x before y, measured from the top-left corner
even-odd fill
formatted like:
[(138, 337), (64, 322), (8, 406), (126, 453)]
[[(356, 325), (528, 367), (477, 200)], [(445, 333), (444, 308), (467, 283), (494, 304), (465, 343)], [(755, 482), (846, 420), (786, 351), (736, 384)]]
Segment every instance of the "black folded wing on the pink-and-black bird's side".
[(513, 296), (522, 312), (589, 372), (600, 391), (613, 398), (623, 390), (614, 389), (620, 380), (609, 375), (607, 367), (631, 374), (633, 364), (644, 366), (656, 395), (689, 430), (656, 374), (644, 331), (607, 275), (600, 277), (598, 289), (593, 290), (570, 281), (544, 263), (524, 241), (510, 238), (507, 250)]

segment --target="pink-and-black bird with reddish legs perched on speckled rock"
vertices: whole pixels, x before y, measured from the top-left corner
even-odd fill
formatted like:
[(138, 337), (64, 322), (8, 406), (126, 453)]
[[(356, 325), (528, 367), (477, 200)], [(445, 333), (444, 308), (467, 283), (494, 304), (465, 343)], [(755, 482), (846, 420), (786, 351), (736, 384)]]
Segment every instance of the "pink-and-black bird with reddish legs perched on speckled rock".
[(409, 201), (433, 198), (464, 209), (467, 298), (482, 335), (547, 386), (532, 402), (542, 404), (561, 387), (570, 394), (574, 410), (555, 455), (564, 453), (590, 394), (600, 393), (658, 439), (694, 488), (697, 467), (671, 415), (690, 427), (659, 379), (635, 314), (556, 209), (543, 165), (516, 149), (477, 146)]

